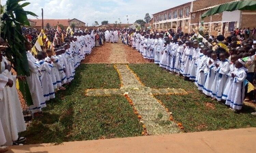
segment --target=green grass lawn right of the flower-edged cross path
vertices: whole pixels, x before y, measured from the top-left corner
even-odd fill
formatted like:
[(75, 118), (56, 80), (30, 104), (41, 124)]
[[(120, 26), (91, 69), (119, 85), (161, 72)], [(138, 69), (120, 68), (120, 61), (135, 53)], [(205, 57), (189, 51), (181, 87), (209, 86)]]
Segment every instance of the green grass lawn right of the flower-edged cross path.
[(169, 74), (155, 64), (130, 64), (129, 67), (148, 87), (183, 88), (189, 92), (184, 96), (156, 96), (173, 113), (173, 119), (183, 124), (184, 132), (256, 127), (256, 117), (251, 115), (255, 110), (250, 106), (244, 105), (242, 112), (236, 114), (224, 103), (202, 94), (194, 83)]

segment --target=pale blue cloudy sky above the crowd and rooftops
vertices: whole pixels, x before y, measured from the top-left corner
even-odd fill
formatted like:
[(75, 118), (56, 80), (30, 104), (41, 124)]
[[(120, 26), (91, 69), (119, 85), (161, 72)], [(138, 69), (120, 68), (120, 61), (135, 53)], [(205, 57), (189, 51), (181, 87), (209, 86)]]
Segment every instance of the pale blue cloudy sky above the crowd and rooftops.
[[(73, 19), (76, 18), (91, 26), (95, 21), (101, 24), (108, 20), (127, 23), (143, 19), (146, 13), (150, 15), (181, 5), (192, 0), (26, 0), (30, 2), (24, 10), (34, 12), (41, 19), (41, 8), (44, 19)], [(1, 0), (5, 4), (6, 0)], [(30, 19), (35, 17), (28, 16)], [(120, 19), (120, 21), (119, 21)]]

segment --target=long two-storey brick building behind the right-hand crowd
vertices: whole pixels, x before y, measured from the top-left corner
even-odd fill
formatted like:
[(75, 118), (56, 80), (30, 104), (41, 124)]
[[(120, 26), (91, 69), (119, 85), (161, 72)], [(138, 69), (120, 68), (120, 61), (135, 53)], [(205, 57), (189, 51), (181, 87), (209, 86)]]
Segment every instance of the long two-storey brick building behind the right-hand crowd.
[[(203, 27), (202, 29), (204, 32), (208, 32), (210, 35), (216, 36), (218, 32), (220, 32), (224, 36), (229, 36), (230, 31), (236, 28), (250, 27), (252, 29), (255, 27), (256, 11), (225, 11), (223, 13), (206, 17), (203, 19), (203, 21), (201, 20), (201, 15), (208, 11), (210, 8), (232, 1), (237, 0), (195, 0), (180, 6), (170, 8), (169, 10), (153, 14), (153, 28), (158, 31), (166, 31), (167, 28), (163, 23), (170, 25), (169, 22), (171, 22), (172, 26), (171, 28), (168, 26), (168, 29), (174, 29), (174, 31), (177, 30), (178, 27), (181, 27), (184, 33), (190, 33), (192, 31), (198, 32), (199, 28)], [(169, 12), (172, 12), (173, 14), (173, 12), (182, 8), (184, 10), (183, 16), (179, 14), (180, 11), (177, 11), (177, 18), (173, 17), (171, 20), (169, 20), (169, 18), (166, 19), (165, 17), (161, 18), (162, 15), (165, 16), (165, 14), (168, 14)], [(187, 10), (189, 10), (188, 13)]]

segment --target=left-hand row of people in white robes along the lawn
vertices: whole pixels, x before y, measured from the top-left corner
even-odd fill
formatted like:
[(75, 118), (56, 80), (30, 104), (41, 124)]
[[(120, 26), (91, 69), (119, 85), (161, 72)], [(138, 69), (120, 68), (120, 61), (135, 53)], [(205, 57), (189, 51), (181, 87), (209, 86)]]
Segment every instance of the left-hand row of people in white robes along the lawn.
[(26, 130), (26, 124), (15, 86), (16, 78), (27, 79), (33, 101), (29, 110), (40, 115), (47, 102), (55, 98), (55, 91), (65, 89), (63, 85), (74, 79), (76, 68), (94, 47), (94, 31), (77, 32), (54, 49), (38, 52), (36, 57), (30, 50), (32, 45), (26, 43), (29, 77), (12, 75), (9, 62), (0, 56), (0, 146), (22, 145), (26, 140), (18, 135)]

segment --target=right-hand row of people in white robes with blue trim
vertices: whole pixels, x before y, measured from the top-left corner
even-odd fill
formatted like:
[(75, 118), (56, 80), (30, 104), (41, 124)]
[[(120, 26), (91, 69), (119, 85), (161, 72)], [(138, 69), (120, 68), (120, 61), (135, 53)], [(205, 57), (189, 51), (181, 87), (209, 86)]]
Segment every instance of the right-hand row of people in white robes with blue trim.
[[(248, 73), (241, 54), (231, 51), (229, 54), (228, 48), (232, 47), (232, 43), (227, 43), (224, 36), (210, 38), (209, 41), (214, 44), (212, 46), (209, 42), (203, 43), (197, 39), (194, 33), (171, 35), (168, 32), (135, 30), (124, 30), (121, 33), (129, 35), (128, 45), (138, 50), (143, 58), (163, 69), (183, 75), (186, 80), (194, 82), (205, 95), (217, 101), (225, 101), (233, 111), (239, 113), (242, 109)], [(124, 41), (123, 43), (126, 44)], [(248, 46), (250, 51), (246, 55), (254, 59), (256, 44), (250, 42)]]

